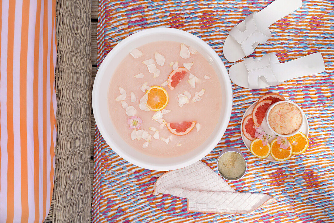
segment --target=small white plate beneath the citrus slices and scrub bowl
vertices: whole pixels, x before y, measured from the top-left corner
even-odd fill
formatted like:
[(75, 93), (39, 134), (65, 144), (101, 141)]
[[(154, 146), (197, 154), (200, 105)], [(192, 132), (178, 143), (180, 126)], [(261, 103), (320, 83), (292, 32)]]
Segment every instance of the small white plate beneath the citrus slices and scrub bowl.
[[(285, 99), (285, 100), (287, 100), (287, 101), (291, 101), (291, 100), (289, 100), (289, 99)], [(241, 125), (240, 125), (240, 131), (241, 131), (241, 138), (242, 138), (242, 141), (243, 141), (243, 143), (245, 144), (245, 146), (247, 147), (247, 149), (249, 150), (249, 152), (250, 152), (251, 154), (252, 154), (252, 152), (251, 152), (251, 150), (250, 150), (249, 148), (250, 148), (250, 146), (251, 146), (252, 141), (249, 140), (249, 139), (247, 139), (247, 138), (243, 135), (243, 133), (242, 133), (242, 122), (243, 122), (243, 119), (244, 119), (246, 116), (248, 116), (249, 114), (252, 114), (253, 108), (255, 107), (255, 105), (256, 105), (257, 102), (258, 102), (258, 101), (254, 102), (251, 106), (249, 106), (249, 108), (247, 108), (247, 110), (245, 111), (245, 114), (243, 114), (243, 116), (242, 116)], [(304, 116), (306, 122), (304, 122), (304, 123), (302, 124), (302, 128), (301, 128), (300, 132), (304, 133), (304, 134), (308, 137), (308, 136), (309, 136), (309, 122), (307, 121), (307, 117), (306, 117), (306, 115), (305, 115), (304, 112), (303, 112), (303, 116)], [(268, 127), (267, 122), (266, 122), (265, 119), (266, 119), (266, 117), (263, 119), (262, 124), (261, 124), (261, 127), (263, 128), (263, 130), (264, 130), (265, 132), (267, 132), (268, 135), (275, 136), (276, 134), (273, 133), (273, 132), (269, 129), (269, 127)], [(275, 136), (275, 137), (270, 137), (270, 138), (268, 139), (269, 144), (270, 144), (274, 139), (276, 139), (276, 136)], [(252, 155), (253, 155), (253, 154), (252, 154)], [(291, 158), (294, 157), (294, 156), (295, 156), (295, 155), (292, 155)], [(257, 157), (257, 158), (258, 158), (258, 157)], [(290, 159), (291, 159), (291, 158), (290, 158)], [(260, 159), (260, 158), (258, 158), (258, 159)], [(268, 156), (267, 158), (264, 158), (264, 159), (261, 159), (261, 160), (266, 160), (266, 161), (271, 161), (271, 162), (278, 162), (278, 161), (276, 161), (276, 160), (271, 156), (271, 154), (269, 154), (269, 156)]]

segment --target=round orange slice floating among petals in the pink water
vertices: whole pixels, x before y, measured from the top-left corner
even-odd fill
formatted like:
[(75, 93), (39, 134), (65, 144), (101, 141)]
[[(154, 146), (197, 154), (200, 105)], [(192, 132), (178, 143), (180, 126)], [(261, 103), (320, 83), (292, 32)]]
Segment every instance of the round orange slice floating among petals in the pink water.
[(148, 94), (146, 105), (152, 111), (159, 111), (167, 106), (169, 98), (165, 88), (152, 86), (146, 94)]

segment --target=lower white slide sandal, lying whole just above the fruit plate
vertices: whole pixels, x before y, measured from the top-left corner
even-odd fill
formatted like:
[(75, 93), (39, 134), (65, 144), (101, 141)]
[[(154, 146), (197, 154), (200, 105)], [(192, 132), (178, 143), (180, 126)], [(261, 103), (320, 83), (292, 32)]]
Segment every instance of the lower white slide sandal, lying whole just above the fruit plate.
[(314, 53), (280, 64), (276, 54), (266, 54), (261, 60), (249, 57), (228, 70), (231, 81), (244, 88), (261, 89), (284, 81), (318, 74), (325, 70), (320, 53)]

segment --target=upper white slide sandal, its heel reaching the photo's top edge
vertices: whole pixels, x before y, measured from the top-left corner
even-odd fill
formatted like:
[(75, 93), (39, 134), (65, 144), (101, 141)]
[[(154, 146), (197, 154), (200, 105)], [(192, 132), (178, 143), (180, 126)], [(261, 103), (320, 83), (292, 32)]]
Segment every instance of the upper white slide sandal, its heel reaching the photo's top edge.
[(259, 12), (253, 12), (229, 32), (223, 53), (229, 62), (252, 54), (271, 38), (269, 26), (302, 6), (302, 0), (275, 0)]

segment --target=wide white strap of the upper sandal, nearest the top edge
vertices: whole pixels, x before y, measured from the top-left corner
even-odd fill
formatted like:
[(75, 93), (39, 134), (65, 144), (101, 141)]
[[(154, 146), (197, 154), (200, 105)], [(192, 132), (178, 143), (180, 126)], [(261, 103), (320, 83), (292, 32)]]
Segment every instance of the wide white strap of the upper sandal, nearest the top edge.
[(254, 52), (255, 47), (253, 45), (256, 43), (264, 44), (269, 38), (271, 38), (271, 32), (269, 27), (260, 30), (260, 26), (256, 24), (256, 19), (254, 15), (257, 12), (253, 12), (247, 15), (245, 18), (246, 30), (241, 31), (237, 26), (234, 26), (229, 34), (231, 37), (241, 45), (241, 48), (246, 56)]

